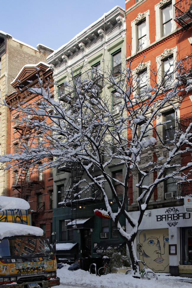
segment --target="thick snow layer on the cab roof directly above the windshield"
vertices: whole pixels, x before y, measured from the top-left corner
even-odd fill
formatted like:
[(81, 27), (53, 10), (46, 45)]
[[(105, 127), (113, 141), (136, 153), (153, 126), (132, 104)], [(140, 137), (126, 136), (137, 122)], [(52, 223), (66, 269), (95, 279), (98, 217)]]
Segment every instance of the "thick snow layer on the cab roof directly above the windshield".
[(43, 236), (43, 229), (18, 223), (0, 222), (0, 239), (15, 235)]

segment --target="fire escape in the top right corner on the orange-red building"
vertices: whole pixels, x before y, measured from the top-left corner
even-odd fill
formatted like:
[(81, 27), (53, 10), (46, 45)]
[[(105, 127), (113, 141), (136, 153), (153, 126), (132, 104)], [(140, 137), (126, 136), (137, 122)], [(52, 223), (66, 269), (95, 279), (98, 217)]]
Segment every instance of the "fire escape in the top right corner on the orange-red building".
[(185, 30), (188, 30), (192, 24), (192, 5), (190, 0), (180, 0), (174, 4), (175, 22)]

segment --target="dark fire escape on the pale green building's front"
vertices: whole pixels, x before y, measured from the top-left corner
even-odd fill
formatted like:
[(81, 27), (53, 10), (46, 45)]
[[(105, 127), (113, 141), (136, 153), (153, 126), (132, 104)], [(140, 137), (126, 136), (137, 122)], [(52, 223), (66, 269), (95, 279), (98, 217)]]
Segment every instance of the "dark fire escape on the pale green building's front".
[[(71, 109), (74, 109), (73, 104), (77, 98), (76, 89), (80, 88), (83, 90), (84, 86), (89, 82), (92, 82), (99, 91), (102, 90), (103, 75), (101, 74), (99, 67), (79, 73), (74, 79), (69, 81), (69, 87), (59, 86), (58, 99), (65, 102)], [(69, 182), (66, 185), (69, 188), (59, 193), (60, 206), (76, 206), (77, 208), (78, 203), (102, 200), (102, 192), (98, 188), (95, 188), (95, 186), (90, 186), (88, 188), (79, 187), (79, 180), (82, 179), (84, 173), (84, 169), (80, 163), (65, 163), (65, 165), (59, 167), (59, 171), (69, 173)]]

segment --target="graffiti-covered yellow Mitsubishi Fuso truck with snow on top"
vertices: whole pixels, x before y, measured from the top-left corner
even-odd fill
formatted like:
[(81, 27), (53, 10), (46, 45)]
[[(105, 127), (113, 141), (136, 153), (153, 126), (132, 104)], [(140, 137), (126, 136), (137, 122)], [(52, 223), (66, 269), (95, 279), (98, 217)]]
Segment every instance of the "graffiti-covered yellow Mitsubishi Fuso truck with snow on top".
[(27, 201), (0, 196), (0, 288), (48, 288), (60, 284), (53, 250), (43, 230), (30, 222)]

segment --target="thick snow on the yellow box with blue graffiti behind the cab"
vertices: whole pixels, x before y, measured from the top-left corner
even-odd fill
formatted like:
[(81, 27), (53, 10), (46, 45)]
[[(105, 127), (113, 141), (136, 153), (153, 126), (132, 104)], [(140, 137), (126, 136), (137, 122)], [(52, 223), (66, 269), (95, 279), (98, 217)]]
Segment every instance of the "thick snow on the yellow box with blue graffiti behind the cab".
[(27, 201), (15, 197), (0, 196), (0, 211), (8, 209), (30, 209)]

